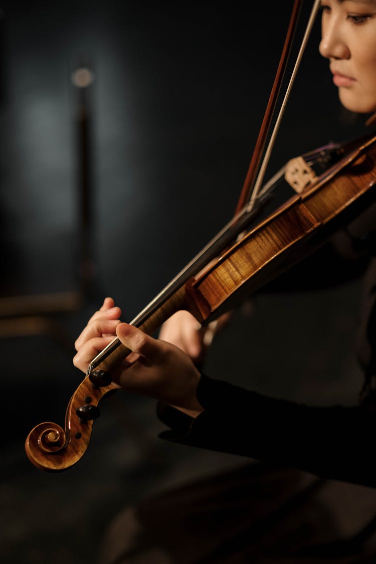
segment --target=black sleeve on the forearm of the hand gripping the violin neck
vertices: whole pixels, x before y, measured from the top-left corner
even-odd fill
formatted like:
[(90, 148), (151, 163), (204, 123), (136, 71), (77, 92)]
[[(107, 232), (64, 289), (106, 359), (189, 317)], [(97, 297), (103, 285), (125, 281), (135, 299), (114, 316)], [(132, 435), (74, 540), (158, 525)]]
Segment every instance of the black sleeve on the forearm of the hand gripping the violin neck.
[(207, 376), (197, 398), (205, 411), (194, 420), (158, 405), (159, 417), (171, 427), (161, 438), (376, 486), (371, 409), (304, 406)]

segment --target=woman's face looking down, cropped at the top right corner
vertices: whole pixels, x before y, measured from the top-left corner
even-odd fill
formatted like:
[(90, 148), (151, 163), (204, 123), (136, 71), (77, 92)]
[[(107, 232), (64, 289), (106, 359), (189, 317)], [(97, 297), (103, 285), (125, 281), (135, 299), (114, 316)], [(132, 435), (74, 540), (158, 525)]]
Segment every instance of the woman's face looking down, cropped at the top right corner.
[(376, 111), (376, 0), (322, 0), (320, 53), (339, 99), (352, 112)]

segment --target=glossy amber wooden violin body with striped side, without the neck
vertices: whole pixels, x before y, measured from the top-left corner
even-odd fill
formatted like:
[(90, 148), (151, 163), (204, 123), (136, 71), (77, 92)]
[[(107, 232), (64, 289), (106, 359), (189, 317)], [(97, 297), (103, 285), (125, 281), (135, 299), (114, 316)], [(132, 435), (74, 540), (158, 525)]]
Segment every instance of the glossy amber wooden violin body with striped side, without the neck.
[(372, 138), (269, 215), (192, 281), (188, 291), (196, 319), (209, 323), (324, 244), (375, 200), (375, 184), (376, 138)]

